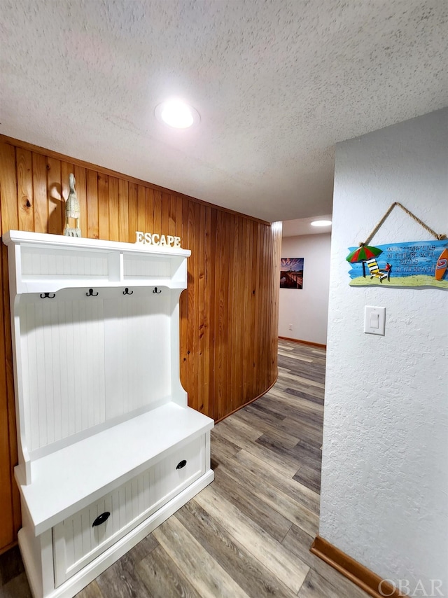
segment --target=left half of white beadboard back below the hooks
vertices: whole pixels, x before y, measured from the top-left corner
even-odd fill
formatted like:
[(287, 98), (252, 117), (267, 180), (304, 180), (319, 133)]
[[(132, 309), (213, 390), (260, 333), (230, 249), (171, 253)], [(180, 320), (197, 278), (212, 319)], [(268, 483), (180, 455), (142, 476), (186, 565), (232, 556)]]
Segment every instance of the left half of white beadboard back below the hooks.
[(29, 450), (104, 422), (103, 319), (102, 300), (22, 297)]

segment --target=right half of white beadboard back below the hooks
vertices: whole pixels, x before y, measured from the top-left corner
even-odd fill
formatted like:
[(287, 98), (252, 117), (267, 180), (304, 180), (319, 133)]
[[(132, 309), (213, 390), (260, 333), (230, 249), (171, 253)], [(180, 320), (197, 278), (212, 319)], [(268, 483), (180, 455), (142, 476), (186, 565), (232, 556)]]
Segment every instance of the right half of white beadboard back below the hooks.
[(171, 393), (171, 319), (169, 291), (149, 293), (134, 288), (104, 302), (106, 419)]

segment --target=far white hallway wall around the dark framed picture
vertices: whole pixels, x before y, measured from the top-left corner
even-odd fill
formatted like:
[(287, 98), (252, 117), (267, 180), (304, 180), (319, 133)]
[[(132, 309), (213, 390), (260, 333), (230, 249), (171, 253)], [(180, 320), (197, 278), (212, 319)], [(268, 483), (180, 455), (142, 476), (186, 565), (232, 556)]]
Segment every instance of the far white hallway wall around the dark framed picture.
[(279, 336), (326, 345), (330, 242), (329, 233), (283, 237), (281, 257), (304, 258), (304, 270), (301, 290), (280, 289)]

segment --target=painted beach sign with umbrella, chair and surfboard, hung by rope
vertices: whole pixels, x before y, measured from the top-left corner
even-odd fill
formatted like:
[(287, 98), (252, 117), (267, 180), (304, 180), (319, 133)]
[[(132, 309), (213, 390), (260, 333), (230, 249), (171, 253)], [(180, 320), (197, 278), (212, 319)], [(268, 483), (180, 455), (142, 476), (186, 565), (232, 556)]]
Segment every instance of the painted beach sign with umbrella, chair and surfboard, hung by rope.
[(349, 251), (350, 286), (448, 288), (447, 239), (349, 247)]

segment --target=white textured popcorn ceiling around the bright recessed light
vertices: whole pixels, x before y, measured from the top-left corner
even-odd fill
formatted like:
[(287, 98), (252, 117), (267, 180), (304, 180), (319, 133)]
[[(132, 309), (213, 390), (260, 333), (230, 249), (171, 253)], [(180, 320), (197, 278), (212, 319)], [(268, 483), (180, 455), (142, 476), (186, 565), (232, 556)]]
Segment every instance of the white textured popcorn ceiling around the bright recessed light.
[[(0, 0), (0, 132), (268, 221), (333, 147), (448, 104), (445, 0)], [(201, 115), (155, 120), (167, 97)]]

